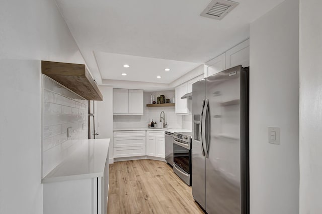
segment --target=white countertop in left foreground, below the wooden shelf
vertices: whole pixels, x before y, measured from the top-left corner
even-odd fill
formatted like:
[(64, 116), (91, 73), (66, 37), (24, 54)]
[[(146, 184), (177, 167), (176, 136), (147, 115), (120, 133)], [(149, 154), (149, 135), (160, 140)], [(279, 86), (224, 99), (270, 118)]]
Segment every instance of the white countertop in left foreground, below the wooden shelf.
[(103, 177), (110, 139), (81, 140), (82, 145), (42, 179), (42, 183)]

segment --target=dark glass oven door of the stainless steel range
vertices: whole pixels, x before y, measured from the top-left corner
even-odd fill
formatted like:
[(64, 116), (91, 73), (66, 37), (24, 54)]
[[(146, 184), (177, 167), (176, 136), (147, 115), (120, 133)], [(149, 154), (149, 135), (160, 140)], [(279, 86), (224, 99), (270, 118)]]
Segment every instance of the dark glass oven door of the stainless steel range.
[(191, 173), (191, 143), (173, 140), (173, 162), (186, 173)]

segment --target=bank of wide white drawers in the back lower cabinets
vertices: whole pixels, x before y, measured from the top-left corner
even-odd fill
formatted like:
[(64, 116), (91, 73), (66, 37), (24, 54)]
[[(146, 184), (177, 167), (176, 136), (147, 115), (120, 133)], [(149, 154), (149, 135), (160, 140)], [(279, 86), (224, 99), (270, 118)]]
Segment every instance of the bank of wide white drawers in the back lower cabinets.
[(146, 155), (145, 131), (114, 131), (114, 158)]

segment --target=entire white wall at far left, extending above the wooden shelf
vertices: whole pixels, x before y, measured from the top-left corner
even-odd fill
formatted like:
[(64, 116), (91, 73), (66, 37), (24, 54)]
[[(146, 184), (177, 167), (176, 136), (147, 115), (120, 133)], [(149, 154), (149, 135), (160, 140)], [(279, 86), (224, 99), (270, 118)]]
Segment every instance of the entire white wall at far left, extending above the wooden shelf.
[(38, 214), (43, 212), (39, 60), (84, 64), (84, 59), (53, 0), (4, 0), (0, 26), (0, 213)]

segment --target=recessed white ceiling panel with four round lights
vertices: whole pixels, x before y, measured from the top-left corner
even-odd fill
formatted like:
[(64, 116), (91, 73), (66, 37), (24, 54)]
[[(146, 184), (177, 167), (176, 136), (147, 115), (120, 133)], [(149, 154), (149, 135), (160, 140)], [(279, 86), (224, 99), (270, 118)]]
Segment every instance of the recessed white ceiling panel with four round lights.
[[(122, 54), (95, 52), (103, 79), (169, 84), (200, 64)], [(123, 65), (130, 65), (124, 68)], [(165, 71), (170, 68), (170, 71)], [(122, 76), (126, 73), (126, 76)], [(160, 76), (161, 78), (156, 78)]]

